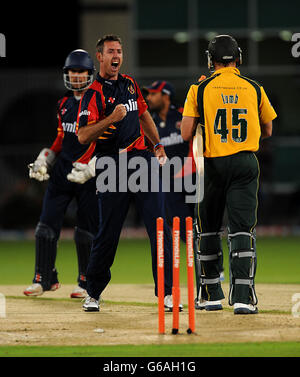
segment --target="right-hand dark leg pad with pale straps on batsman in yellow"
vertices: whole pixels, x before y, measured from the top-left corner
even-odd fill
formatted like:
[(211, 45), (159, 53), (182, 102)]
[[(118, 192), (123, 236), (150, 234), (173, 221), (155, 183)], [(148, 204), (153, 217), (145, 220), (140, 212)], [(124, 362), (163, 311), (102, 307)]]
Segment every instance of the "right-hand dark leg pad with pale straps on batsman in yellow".
[(229, 305), (235, 302), (257, 304), (254, 287), (256, 273), (256, 235), (255, 232), (228, 234), (229, 247)]

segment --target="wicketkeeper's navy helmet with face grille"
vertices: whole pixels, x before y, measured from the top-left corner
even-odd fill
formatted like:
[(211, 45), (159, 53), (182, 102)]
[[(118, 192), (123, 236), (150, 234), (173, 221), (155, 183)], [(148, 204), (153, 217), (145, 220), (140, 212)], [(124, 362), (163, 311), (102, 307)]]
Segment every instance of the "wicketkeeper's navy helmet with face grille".
[[(69, 69), (83, 69), (88, 71), (87, 81), (82, 83), (82, 87), (74, 88), (69, 79)], [(93, 82), (93, 74), (95, 71), (94, 62), (85, 50), (74, 50), (67, 56), (63, 67), (63, 77), (65, 87), (73, 91), (82, 91), (87, 89)]]

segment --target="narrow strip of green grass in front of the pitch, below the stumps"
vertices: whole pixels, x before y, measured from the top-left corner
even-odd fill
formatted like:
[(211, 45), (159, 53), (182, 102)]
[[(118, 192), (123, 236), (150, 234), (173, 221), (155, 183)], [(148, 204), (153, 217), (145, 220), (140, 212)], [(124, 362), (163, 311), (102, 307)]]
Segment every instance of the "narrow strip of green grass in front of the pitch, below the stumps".
[(300, 342), (119, 346), (10, 346), (0, 357), (299, 357)]

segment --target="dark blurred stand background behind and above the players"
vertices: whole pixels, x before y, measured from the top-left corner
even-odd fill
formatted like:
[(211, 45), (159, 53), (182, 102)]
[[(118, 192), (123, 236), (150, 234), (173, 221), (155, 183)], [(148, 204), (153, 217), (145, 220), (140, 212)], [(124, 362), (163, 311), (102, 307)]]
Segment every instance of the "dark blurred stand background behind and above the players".
[[(27, 164), (56, 136), (56, 103), (65, 92), (64, 60), (75, 48), (94, 57), (95, 43), (106, 33), (123, 40), (124, 72), (140, 86), (156, 79), (172, 82), (181, 105), (189, 86), (202, 74), (209, 75), (208, 41), (217, 34), (232, 34), (243, 50), (241, 73), (265, 87), (278, 113), (273, 137), (261, 143), (257, 154), (259, 222), (300, 225), (300, 58), (291, 54), (292, 35), (300, 33), (299, 0), (51, 4), (47, 17), (37, 17), (44, 9), (31, 3), (23, 4), (23, 11), (20, 3), (18, 14), (11, 9), (0, 15), (7, 45), (7, 57), (0, 58), (0, 228), (36, 225), (46, 184), (28, 178)], [(17, 17), (14, 23), (12, 16)], [(98, 69), (96, 60), (95, 65)], [(65, 226), (74, 224), (74, 216), (71, 205)], [(134, 210), (128, 221), (139, 224)]]

